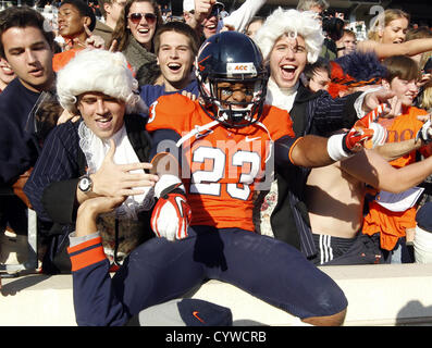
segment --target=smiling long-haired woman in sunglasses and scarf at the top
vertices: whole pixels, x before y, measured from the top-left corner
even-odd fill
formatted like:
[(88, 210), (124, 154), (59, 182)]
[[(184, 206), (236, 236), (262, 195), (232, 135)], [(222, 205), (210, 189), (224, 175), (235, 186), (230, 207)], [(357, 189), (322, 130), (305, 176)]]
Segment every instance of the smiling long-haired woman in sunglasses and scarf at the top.
[(135, 72), (147, 72), (145, 84), (148, 85), (155, 84), (161, 74), (153, 49), (153, 36), (161, 24), (155, 0), (127, 0), (110, 42), (115, 51), (123, 52)]

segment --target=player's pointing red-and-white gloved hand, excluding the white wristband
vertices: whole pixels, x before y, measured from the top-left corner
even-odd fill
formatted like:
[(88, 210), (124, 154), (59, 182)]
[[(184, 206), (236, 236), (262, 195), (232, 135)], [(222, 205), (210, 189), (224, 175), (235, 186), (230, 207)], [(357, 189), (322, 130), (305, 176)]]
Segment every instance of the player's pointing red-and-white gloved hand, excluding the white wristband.
[(359, 151), (366, 140), (371, 140), (372, 148), (383, 146), (387, 138), (387, 130), (375, 121), (386, 112), (385, 105), (380, 104), (366, 116), (358, 120), (345, 135), (343, 147), (348, 152)]

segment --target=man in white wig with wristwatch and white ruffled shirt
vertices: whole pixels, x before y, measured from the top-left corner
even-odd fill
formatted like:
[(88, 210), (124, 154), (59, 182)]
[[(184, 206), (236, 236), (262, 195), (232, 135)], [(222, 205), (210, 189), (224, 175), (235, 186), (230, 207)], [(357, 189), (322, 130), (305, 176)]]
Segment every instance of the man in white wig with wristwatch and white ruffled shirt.
[(123, 203), (99, 219), (104, 251), (113, 263), (152, 236), (149, 210), (157, 176), (145, 171), (150, 150), (138, 84), (121, 53), (85, 50), (59, 72), (61, 105), (81, 115), (54, 128), (25, 186), (38, 215), (54, 222), (57, 248), (44, 271), (69, 272), (65, 254), (76, 211), (88, 198), (122, 196)]

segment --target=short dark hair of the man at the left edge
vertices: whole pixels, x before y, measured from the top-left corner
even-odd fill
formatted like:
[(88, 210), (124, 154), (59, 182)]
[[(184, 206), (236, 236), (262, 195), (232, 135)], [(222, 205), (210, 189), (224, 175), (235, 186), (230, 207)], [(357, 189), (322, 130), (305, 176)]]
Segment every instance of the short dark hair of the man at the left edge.
[(2, 40), (3, 33), (13, 27), (25, 28), (28, 26), (39, 29), (49, 46), (53, 48), (54, 33), (48, 30), (49, 26), (45, 17), (28, 7), (12, 7), (0, 12), (0, 55), (2, 58), (5, 58)]

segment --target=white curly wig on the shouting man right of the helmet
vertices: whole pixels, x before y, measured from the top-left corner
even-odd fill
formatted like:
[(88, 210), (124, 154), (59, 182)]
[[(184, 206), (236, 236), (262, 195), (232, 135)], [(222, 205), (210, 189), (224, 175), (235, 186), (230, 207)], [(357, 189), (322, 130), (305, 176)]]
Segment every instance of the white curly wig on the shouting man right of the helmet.
[(321, 23), (311, 11), (276, 9), (270, 14), (254, 37), (264, 60), (269, 59), (274, 44), (282, 35), (296, 34), (305, 39), (308, 63), (314, 63), (324, 41)]

